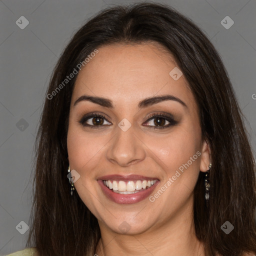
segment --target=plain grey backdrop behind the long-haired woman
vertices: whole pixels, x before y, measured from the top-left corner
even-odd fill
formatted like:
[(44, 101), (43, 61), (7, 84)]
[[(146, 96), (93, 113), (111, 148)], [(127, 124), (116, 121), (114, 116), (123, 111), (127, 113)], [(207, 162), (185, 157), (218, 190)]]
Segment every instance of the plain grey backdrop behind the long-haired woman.
[[(191, 18), (218, 50), (255, 152), (256, 1), (155, 2)], [(0, 255), (25, 247), (28, 231), (18, 232), (24, 224), (15, 227), (20, 221), (29, 225), (33, 144), (54, 64), (75, 30), (95, 12), (118, 3), (131, 1), (0, 0)], [(24, 29), (15, 23), (22, 15), (29, 21)], [(234, 21), (229, 29), (220, 23), (227, 15)]]

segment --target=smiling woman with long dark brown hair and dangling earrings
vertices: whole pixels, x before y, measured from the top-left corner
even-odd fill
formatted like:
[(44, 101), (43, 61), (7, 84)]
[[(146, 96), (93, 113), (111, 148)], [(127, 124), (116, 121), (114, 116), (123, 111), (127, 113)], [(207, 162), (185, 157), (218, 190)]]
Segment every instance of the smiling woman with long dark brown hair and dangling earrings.
[(254, 255), (255, 165), (210, 41), (165, 5), (98, 13), (54, 69), (31, 255)]

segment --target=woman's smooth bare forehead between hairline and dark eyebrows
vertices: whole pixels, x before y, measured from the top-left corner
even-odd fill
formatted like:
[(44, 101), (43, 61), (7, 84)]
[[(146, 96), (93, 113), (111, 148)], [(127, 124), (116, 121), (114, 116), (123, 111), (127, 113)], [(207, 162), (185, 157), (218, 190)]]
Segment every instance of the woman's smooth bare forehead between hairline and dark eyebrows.
[(173, 68), (178, 68), (174, 58), (158, 43), (104, 45), (79, 71), (72, 101), (89, 94), (109, 98), (117, 106), (172, 94), (194, 104), (184, 76), (175, 80), (169, 74)]

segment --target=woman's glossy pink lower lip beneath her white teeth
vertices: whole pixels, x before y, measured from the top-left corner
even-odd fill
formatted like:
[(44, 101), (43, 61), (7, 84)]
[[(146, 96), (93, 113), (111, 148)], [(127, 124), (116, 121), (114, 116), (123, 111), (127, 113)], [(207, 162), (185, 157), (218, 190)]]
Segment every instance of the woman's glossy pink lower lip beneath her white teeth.
[(131, 204), (142, 201), (143, 199), (149, 196), (149, 194), (153, 191), (156, 184), (159, 182), (159, 180), (157, 180), (152, 186), (148, 187), (143, 191), (136, 192), (134, 194), (119, 194), (113, 192), (111, 189), (105, 186), (103, 184), (103, 180), (97, 181), (106, 197), (119, 204)]

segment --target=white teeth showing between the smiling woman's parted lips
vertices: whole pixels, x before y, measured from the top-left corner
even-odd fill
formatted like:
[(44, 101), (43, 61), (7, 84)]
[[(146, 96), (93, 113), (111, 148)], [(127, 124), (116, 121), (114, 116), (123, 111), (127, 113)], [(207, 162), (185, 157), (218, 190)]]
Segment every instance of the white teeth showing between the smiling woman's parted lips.
[(154, 180), (103, 180), (103, 184), (115, 193), (133, 194), (146, 190), (153, 186), (157, 179)]

